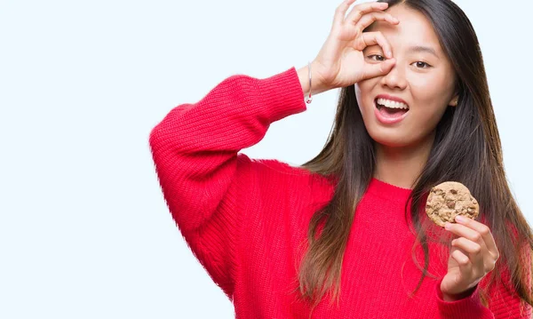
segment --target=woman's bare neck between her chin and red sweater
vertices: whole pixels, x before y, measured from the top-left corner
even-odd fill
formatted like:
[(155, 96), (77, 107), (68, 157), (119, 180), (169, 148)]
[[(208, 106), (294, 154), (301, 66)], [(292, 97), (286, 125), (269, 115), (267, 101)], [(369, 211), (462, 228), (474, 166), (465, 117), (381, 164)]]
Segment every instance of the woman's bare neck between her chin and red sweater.
[(402, 148), (376, 143), (376, 171), (374, 178), (397, 187), (414, 187), (424, 169), (434, 143), (434, 133), (423, 142)]

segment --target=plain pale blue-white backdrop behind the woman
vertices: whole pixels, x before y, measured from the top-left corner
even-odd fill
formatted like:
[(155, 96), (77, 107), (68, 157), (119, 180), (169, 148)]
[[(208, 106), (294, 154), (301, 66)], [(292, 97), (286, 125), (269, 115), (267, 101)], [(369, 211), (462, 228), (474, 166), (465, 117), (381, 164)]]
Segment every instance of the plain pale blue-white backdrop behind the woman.
[[(0, 317), (233, 318), (171, 219), (148, 134), (227, 76), (306, 66), (338, 3), (0, 2)], [(533, 4), (457, 4), (480, 38), (509, 183), (533, 221)], [(243, 153), (306, 162), (337, 98), (314, 96)]]

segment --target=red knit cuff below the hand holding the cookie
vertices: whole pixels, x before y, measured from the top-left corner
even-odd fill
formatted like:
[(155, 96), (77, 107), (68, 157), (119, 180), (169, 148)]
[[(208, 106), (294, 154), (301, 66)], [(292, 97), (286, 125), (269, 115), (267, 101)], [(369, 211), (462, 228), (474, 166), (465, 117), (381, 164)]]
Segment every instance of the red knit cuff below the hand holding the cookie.
[(442, 279), (444, 279), (444, 277), (442, 277), (435, 285), (437, 305), (442, 318), (473, 318), (476, 315), (480, 315), (484, 311), (485, 307), (483, 304), (481, 304), (478, 288), (479, 285), (476, 286), (475, 290), (473, 290), (470, 296), (464, 299), (445, 301), (441, 291)]

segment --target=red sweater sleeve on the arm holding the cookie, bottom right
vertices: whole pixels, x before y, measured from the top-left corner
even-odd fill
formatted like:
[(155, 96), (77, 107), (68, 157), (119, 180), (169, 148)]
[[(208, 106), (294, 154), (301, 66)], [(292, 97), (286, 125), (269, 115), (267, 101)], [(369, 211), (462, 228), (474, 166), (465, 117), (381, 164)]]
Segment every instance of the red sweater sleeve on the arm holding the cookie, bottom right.
[[(436, 283), (435, 291), (440, 317), (442, 319), (530, 319), (531, 307), (521, 304), (521, 299), (517, 293), (509, 291), (513, 287), (510, 281), (508, 269), (502, 273), (502, 280), (506, 283), (493, 284), (489, 289), (489, 306), (485, 307), (481, 303), (479, 285), (466, 298), (456, 301), (445, 301), (442, 299), (441, 278)], [(481, 283), (480, 283), (481, 284)]]

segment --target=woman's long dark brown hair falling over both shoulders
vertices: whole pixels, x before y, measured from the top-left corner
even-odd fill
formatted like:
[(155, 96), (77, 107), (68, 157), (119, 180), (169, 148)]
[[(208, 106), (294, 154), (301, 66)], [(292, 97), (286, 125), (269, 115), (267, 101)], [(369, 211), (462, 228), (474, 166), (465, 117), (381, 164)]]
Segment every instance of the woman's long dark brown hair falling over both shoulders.
[[(457, 107), (449, 107), (435, 128), (435, 140), (428, 161), (411, 192), (410, 211), (405, 206), (405, 218), (411, 219), (411, 231), (424, 251), (424, 267), (416, 293), (428, 273), (429, 226), (421, 218), (426, 195), (431, 187), (455, 180), (468, 187), (481, 206), (480, 218), (495, 237), (500, 259), (491, 272), (489, 283), (480, 285), (482, 302), (487, 305), (486, 291), (491, 283), (504, 284), (517, 291), (521, 299), (533, 305), (529, 282), (530, 252), (533, 235), (507, 184), (502, 147), (496, 118), (489, 96), (487, 76), (480, 44), (473, 26), (456, 4), (449, 0), (389, 0), (379, 1), (389, 8), (402, 4), (422, 12), (431, 22), (443, 52), (455, 69)], [(338, 300), (340, 267), (346, 241), (354, 220), (354, 208), (370, 184), (375, 170), (375, 144), (362, 121), (355, 98), (354, 85), (342, 88), (334, 126), (328, 141), (318, 156), (301, 165), (322, 176), (334, 176), (335, 194), (324, 208), (314, 213), (307, 239), (309, 248), (298, 274), (299, 291), (304, 299), (318, 304), (324, 293), (334, 288)], [(322, 231), (317, 238), (319, 225)], [(448, 246), (449, 247), (449, 246)], [(413, 247), (414, 248), (414, 247)], [(413, 250), (413, 259), (416, 259)], [(418, 265), (418, 261), (415, 260)], [(502, 279), (504, 265), (510, 281)], [(319, 287), (321, 287), (319, 289)], [(482, 289), (481, 289), (482, 288)]]

